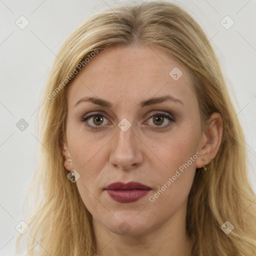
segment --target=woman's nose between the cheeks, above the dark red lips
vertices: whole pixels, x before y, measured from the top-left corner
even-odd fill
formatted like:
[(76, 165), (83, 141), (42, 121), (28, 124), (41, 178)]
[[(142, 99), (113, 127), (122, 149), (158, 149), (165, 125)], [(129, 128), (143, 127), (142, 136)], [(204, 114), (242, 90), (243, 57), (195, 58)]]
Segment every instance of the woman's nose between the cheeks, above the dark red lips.
[(142, 163), (141, 141), (133, 132), (132, 126), (123, 131), (117, 126), (117, 133), (113, 137), (109, 162), (120, 169), (130, 169)]

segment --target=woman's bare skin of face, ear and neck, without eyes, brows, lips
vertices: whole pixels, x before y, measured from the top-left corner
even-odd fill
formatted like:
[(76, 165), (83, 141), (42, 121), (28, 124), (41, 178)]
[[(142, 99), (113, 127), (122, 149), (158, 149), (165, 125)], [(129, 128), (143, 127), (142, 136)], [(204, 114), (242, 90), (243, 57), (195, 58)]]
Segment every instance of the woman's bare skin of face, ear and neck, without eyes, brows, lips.
[[(174, 67), (183, 73), (178, 80), (169, 75)], [(99, 256), (191, 255), (185, 229), (188, 193), (196, 168), (215, 157), (222, 138), (218, 113), (201, 130), (198, 102), (191, 88), (189, 70), (156, 45), (113, 46), (100, 51), (68, 85), (64, 166), (80, 175), (76, 185), (92, 214)], [(166, 94), (183, 103), (139, 105)], [(91, 102), (74, 106), (85, 96), (102, 98), (112, 106)], [(101, 121), (87, 120), (99, 127), (95, 130), (80, 121), (93, 111), (104, 115)], [(163, 118), (157, 122), (153, 115), (158, 113), (170, 114), (175, 121)], [(131, 124), (126, 131), (118, 126), (123, 118)], [(149, 196), (196, 151), (201, 155), (151, 202)], [(116, 181), (138, 181), (152, 190), (138, 201), (120, 203), (103, 190)], [(123, 221), (130, 228), (126, 233), (119, 229)]]

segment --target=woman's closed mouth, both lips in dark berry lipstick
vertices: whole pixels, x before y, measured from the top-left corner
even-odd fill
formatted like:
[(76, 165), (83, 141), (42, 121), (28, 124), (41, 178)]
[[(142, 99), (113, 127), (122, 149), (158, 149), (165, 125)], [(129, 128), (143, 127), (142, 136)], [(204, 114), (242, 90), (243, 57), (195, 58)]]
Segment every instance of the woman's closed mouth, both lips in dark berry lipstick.
[(139, 182), (114, 182), (109, 184), (104, 190), (117, 202), (134, 202), (144, 197), (152, 188)]

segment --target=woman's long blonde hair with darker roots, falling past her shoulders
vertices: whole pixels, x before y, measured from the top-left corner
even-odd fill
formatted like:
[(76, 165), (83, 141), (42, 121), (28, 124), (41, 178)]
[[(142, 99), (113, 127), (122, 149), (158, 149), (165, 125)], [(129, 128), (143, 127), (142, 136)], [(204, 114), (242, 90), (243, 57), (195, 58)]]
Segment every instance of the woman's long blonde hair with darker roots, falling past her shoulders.
[[(28, 190), (36, 207), (24, 219), (29, 225), (23, 234), (27, 254), (96, 253), (91, 214), (63, 166), (66, 89), (69, 75), (79, 71), (77, 65), (86, 56), (109, 46), (130, 44), (155, 44), (179, 59), (192, 72), (201, 124), (214, 111), (223, 119), (217, 155), (207, 171), (196, 169), (188, 197), (186, 228), (193, 241), (192, 255), (256, 255), (256, 209), (252, 204), (256, 197), (247, 178), (244, 135), (218, 59), (194, 19), (165, 1), (118, 4), (93, 13), (60, 48), (44, 87), (37, 121), (38, 159), (32, 191)], [(234, 226), (228, 234), (221, 229), (225, 221)]]

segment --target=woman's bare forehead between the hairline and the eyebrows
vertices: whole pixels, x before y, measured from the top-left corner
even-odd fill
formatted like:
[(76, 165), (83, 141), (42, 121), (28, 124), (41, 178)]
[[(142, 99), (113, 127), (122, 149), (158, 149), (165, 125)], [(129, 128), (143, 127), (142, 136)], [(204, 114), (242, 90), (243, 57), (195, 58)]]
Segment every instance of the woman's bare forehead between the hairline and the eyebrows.
[(68, 102), (74, 105), (85, 95), (141, 101), (166, 93), (194, 99), (191, 87), (190, 71), (159, 46), (112, 46), (99, 51), (74, 77)]

